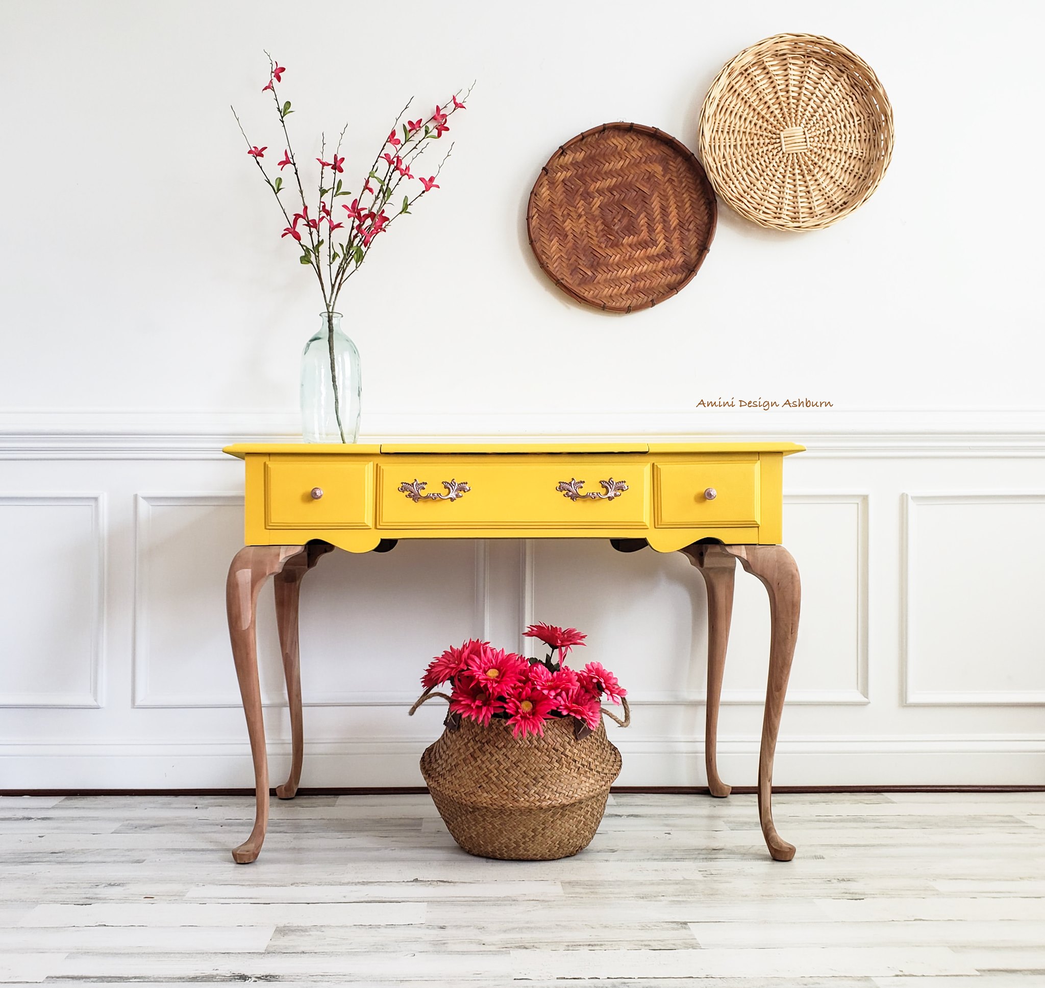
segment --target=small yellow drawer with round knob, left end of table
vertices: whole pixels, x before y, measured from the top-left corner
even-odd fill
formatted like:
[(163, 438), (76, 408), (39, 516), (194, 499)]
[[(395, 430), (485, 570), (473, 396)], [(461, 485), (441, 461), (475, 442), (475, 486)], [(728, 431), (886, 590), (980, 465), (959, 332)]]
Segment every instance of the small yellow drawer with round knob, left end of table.
[[(265, 527), (369, 528), (374, 465), (272, 460), (264, 465)], [(315, 497), (312, 491), (319, 492)]]

